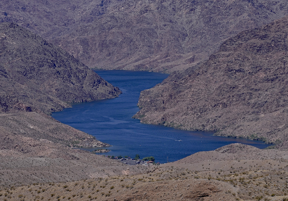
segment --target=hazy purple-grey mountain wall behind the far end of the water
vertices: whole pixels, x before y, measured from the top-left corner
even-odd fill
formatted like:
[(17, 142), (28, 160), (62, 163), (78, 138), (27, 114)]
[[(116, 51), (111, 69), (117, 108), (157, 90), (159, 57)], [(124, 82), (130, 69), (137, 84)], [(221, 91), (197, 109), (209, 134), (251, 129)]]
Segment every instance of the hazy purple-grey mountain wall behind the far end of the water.
[(165, 71), (207, 59), (227, 38), (288, 14), (287, 1), (9, 1), (16, 22), (92, 68)]

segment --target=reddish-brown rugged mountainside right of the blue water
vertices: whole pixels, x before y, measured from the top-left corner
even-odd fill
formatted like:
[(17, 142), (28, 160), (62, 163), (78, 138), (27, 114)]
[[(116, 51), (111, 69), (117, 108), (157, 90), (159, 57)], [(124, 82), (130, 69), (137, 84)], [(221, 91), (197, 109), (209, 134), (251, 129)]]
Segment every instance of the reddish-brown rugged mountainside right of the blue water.
[(223, 42), (199, 65), (141, 92), (144, 123), (287, 144), (288, 18)]

